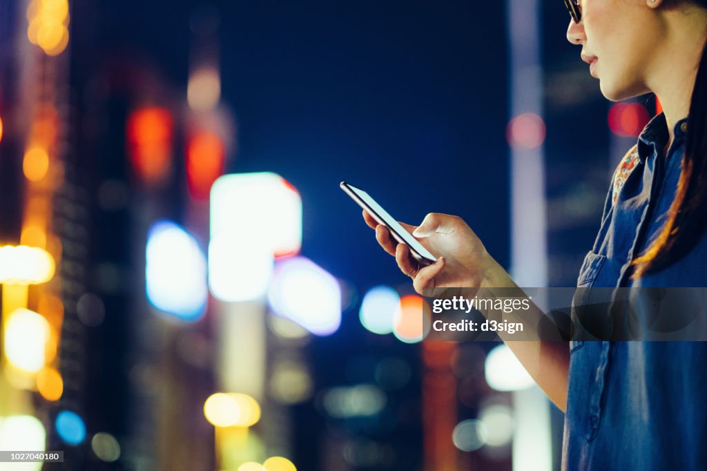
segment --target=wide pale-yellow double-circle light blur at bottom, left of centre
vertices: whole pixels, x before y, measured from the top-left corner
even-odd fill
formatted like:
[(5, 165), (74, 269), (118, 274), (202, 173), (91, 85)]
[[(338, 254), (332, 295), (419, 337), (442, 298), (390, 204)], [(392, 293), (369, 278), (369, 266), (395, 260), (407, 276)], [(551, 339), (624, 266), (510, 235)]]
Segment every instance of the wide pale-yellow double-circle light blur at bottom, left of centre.
[(219, 427), (249, 427), (260, 419), (260, 405), (246, 394), (216, 392), (204, 402), (206, 420)]

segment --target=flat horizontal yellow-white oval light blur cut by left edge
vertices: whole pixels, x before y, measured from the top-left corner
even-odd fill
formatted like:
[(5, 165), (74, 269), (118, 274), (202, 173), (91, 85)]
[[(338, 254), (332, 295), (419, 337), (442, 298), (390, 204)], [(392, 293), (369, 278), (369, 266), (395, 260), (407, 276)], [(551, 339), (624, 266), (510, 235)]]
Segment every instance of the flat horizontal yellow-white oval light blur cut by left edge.
[(54, 277), (54, 259), (44, 249), (19, 245), (0, 247), (0, 283), (42, 284)]

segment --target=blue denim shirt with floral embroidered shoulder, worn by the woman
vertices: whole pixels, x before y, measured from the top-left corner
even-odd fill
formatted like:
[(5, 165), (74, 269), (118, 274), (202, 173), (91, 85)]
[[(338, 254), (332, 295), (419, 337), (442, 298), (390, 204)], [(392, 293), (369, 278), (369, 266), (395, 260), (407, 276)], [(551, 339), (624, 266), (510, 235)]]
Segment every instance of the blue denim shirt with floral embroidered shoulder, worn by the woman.
[[(614, 173), (578, 286), (707, 286), (707, 235), (681, 260), (631, 279), (630, 262), (660, 233), (674, 198), (686, 120), (669, 139), (653, 118)], [(562, 469), (707, 469), (707, 342), (570, 344)]]

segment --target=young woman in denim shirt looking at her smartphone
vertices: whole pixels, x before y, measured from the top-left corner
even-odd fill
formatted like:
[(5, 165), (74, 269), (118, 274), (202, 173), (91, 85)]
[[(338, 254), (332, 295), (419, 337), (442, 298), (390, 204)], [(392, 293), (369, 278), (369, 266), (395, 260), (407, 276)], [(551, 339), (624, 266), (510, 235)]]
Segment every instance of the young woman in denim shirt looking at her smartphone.
[[(655, 93), (664, 110), (614, 173), (578, 286), (707, 286), (707, 0), (565, 4), (567, 39), (604, 96)], [(456, 216), (404, 226), (439, 257), (421, 269), (363, 216), (419, 293), (518, 288)], [(707, 469), (707, 344), (507, 343), (566, 412), (563, 470)]]

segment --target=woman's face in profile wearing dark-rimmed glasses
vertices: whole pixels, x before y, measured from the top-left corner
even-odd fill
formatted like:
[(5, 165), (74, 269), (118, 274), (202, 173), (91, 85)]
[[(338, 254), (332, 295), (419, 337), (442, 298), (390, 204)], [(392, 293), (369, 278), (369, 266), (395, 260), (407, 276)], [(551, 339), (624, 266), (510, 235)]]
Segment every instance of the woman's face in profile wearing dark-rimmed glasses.
[(580, 23), (570, 20), (567, 39), (582, 46), (582, 59), (609, 100), (648, 93), (661, 37), (660, 0), (580, 0)]

